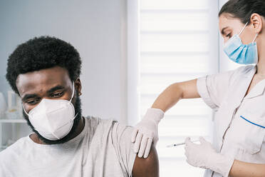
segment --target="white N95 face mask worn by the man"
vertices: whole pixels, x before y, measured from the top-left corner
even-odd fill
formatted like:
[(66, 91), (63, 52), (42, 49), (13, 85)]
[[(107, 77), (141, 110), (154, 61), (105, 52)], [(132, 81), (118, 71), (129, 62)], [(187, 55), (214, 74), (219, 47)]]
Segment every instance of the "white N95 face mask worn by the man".
[(75, 86), (73, 83), (73, 93), (71, 100), (52, 100), (43, 98), (38, 105), (33, 108), (28, 115), (28, 119), (32, 126), (44, 138), (55, 141), (65, 137), (73, 127), (75, 116), (75, 108), (73, 103), (73, 95)]

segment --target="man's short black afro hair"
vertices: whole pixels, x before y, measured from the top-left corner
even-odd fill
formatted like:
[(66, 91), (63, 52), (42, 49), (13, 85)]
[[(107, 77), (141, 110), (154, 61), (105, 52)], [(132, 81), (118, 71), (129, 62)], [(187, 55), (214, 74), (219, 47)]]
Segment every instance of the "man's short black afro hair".
[(35, 37), (20, 44), (9, 56), (6, 80), (19, 94), (16, 79), (19, 74), (61, 66), (68, 70), (71, 81), (80, 76), (81, 60), (78, 51), (66, 41), (50, 36)]

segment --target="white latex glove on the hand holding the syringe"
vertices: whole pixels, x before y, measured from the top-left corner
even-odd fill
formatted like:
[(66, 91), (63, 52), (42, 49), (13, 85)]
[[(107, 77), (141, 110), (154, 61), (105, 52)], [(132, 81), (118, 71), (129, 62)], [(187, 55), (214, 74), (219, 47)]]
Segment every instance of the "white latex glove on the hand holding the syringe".
[(212, 171), (229, 176), (229, 171), (234, 163), (234, 158), (217, 153), (212, 144), (199, 137), (200, 144), (192, 143), (190, 138), (185, 141), (185, 156), (187, 163), (199, 168), (208, 168)]

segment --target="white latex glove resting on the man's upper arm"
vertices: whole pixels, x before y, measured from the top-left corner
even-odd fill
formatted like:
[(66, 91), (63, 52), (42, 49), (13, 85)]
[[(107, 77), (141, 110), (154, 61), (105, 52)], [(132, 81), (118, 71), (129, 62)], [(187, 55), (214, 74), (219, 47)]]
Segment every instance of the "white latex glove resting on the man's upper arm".
[(137, 123), (132, 133), (132, 142), (135, 143), (134, 151), (138, 157), (147, 158), (152, 146), (158, 141), (158, 123), (164, 117), (164, 112), (158, 108), (148, 108), (145, 116)]

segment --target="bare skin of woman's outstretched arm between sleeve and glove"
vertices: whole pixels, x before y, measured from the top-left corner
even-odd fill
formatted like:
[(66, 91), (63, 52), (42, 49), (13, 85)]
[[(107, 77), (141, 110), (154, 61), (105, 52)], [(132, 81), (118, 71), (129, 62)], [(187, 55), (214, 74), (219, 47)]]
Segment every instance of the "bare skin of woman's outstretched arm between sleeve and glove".
[(175, 83), (167, 87), (152, 104), (152, 108), (167, 111), (182, 98), (199, 98), (197, 79)]

